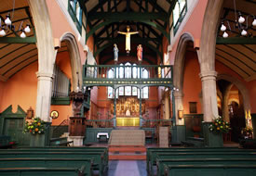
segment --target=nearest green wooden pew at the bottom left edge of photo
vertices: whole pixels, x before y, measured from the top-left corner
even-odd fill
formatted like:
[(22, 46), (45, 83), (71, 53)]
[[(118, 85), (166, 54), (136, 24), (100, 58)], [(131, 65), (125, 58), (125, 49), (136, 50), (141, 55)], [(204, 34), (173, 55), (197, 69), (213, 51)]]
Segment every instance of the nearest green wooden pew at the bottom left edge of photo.
[(1, 168), (0, 175), (3, 176), (82, 176), (84, 167), (77, 168)]

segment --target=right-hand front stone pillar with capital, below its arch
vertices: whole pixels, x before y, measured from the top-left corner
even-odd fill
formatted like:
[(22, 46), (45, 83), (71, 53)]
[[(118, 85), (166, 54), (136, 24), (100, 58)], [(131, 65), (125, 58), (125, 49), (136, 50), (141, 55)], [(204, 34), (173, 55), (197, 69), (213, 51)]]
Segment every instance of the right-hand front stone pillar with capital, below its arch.
[(209, 70), (201, 72), (199, 75), (202, 81), (204, 121), (210, 122), (212, 119), (218, 117), (216, 91), (217, 72)]

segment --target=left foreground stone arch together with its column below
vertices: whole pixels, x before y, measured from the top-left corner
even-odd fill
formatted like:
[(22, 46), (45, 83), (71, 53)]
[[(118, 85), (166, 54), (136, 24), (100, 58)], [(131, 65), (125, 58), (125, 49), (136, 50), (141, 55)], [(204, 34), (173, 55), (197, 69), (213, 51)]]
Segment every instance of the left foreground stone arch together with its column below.
[(36, 32), (38, 50), (37, 97), (35, 116), (49, 121), (52, 78), (55, 60), (51, 22), (46, 0), (28, 0)]

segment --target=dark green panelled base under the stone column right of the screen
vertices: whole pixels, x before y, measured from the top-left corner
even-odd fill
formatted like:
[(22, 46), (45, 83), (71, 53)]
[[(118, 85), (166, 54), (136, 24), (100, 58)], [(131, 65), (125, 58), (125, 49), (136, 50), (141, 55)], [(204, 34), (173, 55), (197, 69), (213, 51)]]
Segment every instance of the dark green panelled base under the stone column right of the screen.
[(171, 129), (171, 143), (181, 143), (186, 139), (186, 126), (176, 125)]

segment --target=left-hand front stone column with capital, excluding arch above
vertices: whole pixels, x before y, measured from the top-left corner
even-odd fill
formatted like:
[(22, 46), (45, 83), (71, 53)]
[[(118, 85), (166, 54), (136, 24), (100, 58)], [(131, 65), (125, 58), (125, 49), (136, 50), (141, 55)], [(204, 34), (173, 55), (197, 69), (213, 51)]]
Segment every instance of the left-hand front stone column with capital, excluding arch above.
[(38, 82), (35, 115), (45, 121), (49, 121), (53, 74), (37, 72), (36, 75)]

